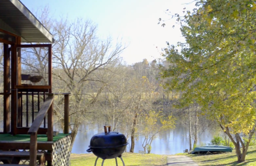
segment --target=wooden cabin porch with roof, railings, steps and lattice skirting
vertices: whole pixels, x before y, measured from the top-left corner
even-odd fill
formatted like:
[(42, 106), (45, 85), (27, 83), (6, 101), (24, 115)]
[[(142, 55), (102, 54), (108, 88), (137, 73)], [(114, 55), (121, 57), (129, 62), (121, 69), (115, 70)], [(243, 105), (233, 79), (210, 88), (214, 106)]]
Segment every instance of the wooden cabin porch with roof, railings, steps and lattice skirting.
[[(52, 92), (52, 43), (20, 0), (0, 0), (0, 166), (70, 165), (70, 93)], [(63, 98), (62, 133), (53, 131), (56, 95)]]

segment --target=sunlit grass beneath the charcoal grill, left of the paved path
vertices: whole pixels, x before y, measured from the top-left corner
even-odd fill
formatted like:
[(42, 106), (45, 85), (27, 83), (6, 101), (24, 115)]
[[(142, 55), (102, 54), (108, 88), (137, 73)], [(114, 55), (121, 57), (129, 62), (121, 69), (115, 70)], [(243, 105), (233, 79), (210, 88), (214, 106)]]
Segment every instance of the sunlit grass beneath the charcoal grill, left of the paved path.
[[(166, 165), (166, 155), (155, 154), (139, 154), (139, 153), (124, 153), (122, 155), (125, 166), (163, 166)], [(71, 154), (71, 165), (93, 166), (96, 156), (93, 154)], [(98, 159), (97, 166), (101, 166), (102, 159)], [(117, 158), (119, 166), (123, 166), (122, 161)], [(116, 165), (115, 159), (107, 159), (104, 166)]]

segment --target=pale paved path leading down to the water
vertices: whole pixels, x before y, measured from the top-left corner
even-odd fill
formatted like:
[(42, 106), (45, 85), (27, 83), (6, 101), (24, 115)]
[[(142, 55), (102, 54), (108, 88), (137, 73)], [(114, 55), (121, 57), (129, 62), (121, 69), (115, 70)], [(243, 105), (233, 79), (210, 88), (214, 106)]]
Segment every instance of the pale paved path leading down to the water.
[(167, 156), (168, 166), (198, 166), (196, 162), (187, 156), (183, 155), (170, 155)]

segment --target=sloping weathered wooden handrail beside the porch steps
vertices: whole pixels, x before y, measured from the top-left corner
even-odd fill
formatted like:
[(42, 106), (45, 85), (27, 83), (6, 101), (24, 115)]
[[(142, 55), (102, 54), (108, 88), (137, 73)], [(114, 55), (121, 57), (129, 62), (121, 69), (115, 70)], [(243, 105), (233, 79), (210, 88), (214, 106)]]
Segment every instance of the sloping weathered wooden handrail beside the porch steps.
[[(32, 123), (31, 127), (28, 130), (28, 134), (36, 134), (37, 133), (40, 125), (42, 124), (42, 122), (44, 120), (46, 113), (48, 112), (48, 110), (51, 111), (50, 108), (52, 107), (52, 102), (53, 102), (53, 96), (49, 96), (45, 99), (34, 122)], [(48, 129), (49, 129), (49, 127), (48, 127)]]

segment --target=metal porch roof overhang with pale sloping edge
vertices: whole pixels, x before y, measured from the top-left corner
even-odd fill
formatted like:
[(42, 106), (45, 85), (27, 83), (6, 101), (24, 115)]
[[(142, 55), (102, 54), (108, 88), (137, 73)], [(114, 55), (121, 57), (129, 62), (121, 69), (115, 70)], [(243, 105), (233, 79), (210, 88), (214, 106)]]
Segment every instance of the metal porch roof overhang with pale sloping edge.
[(21, 42), (54, 42), (52, 34), (20, 0), (0, 0), (0, 23), (5, 31), (21, 36)]

